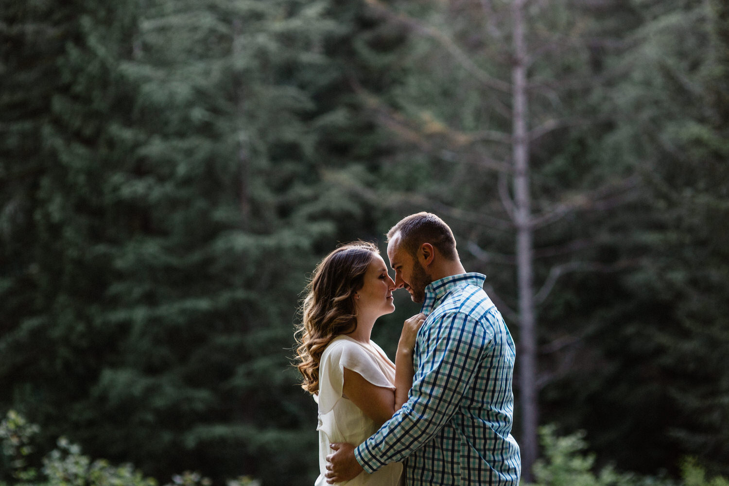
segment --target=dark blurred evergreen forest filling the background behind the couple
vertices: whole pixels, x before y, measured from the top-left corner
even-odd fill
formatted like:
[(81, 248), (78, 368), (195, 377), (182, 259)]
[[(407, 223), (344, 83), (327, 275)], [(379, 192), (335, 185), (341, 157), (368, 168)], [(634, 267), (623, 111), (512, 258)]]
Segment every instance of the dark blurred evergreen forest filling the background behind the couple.
[(728, 135), (720, 0), (5, 0), (0, 412), (31, 463), (311, 484), (301, 291), (433, 211), (517, 342), (527, 479), (540, 424), (729, 474)]

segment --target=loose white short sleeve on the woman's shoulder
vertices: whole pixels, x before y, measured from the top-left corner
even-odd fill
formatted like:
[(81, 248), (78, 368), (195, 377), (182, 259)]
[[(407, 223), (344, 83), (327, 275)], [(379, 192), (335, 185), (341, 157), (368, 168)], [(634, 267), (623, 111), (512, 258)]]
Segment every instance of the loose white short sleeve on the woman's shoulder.
[(356, 342), (331, 342), (319, 363), (319, 411), (330, 412), (342, 397), (344, 368), (359, 373), (375, 386), (395, 389), (380, 369), (376, 358)]

